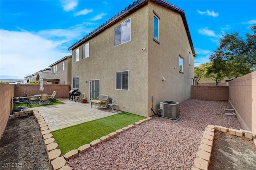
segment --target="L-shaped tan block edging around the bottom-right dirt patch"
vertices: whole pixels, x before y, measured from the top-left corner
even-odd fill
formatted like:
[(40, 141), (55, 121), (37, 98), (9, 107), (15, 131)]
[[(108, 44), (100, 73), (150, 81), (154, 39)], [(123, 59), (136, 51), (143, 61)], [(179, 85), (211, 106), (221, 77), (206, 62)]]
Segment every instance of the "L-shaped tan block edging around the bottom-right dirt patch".
[(215, 131), (229, 133), (238, 136), (239, 138), (252, 141), (252, 133), (247, 130), (236, 130), (232, 128), (226, 128), (223, 126), (214, 126), (208, 124), (204, 130), (200, 146), (198, 147), (196, 159), (194, 160), (194, 168), (192, 168), (192, 170), (208, 170), (212, 154), (212, 146)]

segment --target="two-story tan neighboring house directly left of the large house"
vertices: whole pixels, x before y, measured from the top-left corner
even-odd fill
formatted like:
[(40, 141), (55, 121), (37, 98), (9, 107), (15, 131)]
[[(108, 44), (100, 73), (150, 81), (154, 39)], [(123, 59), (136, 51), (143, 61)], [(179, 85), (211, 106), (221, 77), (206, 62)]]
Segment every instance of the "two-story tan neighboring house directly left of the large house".
[(52, 72), (56, 73), (60, 78), (59, 84), (71, 84), (71, 57), (72, 56), (65, 56), (49, 66), (51, 67)]

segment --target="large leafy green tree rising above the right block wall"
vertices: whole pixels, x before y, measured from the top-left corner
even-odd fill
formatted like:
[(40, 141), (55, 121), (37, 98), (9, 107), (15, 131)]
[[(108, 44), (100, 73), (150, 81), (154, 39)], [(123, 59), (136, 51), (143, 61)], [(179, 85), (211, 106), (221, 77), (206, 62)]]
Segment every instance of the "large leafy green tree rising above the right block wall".
[(246, 39), (238, 32), (222, 36), (218, 48), (210, 55), (212, 68), (208, 73), (234, 79), (256, 70), (256, 26), (250, 29), (254, 34), (246, 33)]

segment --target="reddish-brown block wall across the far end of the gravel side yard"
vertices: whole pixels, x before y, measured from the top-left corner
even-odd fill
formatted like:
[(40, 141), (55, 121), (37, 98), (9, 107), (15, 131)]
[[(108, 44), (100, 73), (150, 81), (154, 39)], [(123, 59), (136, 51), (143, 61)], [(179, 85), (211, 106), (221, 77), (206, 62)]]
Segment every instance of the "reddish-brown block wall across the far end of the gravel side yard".
[(222, 101), (228, 100), (228, 86), (191, 86), (191, 98)]

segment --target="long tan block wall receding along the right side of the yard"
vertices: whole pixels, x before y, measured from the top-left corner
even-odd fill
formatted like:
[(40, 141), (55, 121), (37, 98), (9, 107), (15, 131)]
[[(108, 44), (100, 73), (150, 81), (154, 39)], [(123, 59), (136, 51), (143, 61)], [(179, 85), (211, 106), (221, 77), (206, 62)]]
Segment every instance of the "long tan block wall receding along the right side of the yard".
[(239, 122), (256, 136), (256, 71), (228, 82), (228, 87)]

